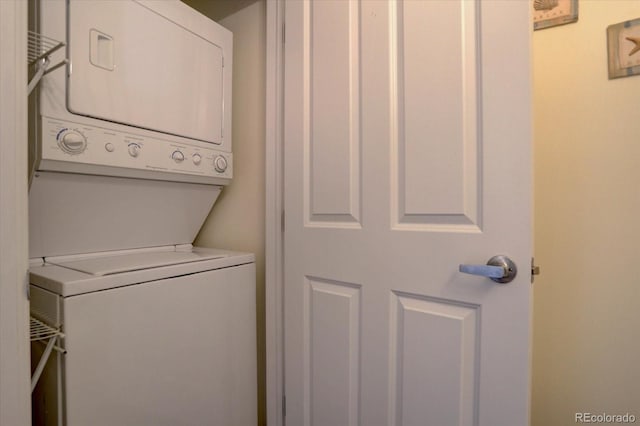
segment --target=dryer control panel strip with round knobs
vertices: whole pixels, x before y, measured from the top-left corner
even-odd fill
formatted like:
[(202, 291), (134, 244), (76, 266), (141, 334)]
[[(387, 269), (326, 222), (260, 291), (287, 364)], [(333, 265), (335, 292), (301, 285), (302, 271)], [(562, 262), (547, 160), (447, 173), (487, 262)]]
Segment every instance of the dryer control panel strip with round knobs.
[(43, 160), (232, 178), (231, 153), (211, 143), (150, 138), (46, 117), (41, 149)]

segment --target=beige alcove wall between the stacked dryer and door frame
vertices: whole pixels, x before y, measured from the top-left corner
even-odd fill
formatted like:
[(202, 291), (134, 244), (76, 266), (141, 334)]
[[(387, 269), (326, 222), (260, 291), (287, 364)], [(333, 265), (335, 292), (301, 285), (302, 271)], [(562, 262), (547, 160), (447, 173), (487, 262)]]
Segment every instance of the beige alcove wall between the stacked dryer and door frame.
[[(191, 6), (206, 0), (189, 1)], [(207, 6), (206, 4), (203, 4)], [(203, 6), (200, 5), (200, 6)], [(266, 7), (253, 3), (219, 21), (233, 32), (233, 167), (195, 244), (256, 254), (258, 416), (265, 424), (264, 218)]]

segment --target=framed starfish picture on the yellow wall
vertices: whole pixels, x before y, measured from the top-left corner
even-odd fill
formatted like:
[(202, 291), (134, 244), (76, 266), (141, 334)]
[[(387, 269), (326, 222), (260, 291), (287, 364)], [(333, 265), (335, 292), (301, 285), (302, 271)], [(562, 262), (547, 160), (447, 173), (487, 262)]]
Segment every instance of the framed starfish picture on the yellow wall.
[(607, 27), (609, 79), (640, 74), (640, 18)]

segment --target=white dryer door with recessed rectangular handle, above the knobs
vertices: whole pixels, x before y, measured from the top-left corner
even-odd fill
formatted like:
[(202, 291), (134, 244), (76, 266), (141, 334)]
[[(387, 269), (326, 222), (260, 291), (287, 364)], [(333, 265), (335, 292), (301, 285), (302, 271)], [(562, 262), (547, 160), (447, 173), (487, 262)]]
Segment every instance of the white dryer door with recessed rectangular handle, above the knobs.
[(69, 2), (67, 107), (221, 144), (230, 33), (181, 2), (158, 3)]

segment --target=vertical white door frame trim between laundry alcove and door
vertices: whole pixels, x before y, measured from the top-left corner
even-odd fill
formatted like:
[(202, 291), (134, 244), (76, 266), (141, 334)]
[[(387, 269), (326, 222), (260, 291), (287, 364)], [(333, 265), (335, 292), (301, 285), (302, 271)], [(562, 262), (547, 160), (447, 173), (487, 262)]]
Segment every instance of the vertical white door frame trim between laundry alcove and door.
[(284, 425), (283, 25), (284, 1), (267, 1), (266, 40), (266, 395), (267, 424)]

